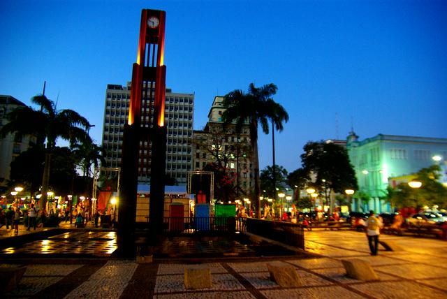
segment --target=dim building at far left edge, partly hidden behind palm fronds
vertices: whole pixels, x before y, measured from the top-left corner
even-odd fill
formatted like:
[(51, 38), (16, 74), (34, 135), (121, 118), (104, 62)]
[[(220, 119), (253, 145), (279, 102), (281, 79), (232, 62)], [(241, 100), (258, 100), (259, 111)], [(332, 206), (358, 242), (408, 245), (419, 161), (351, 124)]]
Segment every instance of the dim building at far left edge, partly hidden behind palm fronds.
[[(21, 106), (26, 107), (13, 96), (0, 95), (0, 129), (8, 122), (8, 113)], [(10, 163), (21, 152), (26, 151), (31, 143), (36, 143), (35, 137), (8, 134), (5, 138), (0, 138), (0, 186), (5, 186), (6, 180), (10, 178)]]

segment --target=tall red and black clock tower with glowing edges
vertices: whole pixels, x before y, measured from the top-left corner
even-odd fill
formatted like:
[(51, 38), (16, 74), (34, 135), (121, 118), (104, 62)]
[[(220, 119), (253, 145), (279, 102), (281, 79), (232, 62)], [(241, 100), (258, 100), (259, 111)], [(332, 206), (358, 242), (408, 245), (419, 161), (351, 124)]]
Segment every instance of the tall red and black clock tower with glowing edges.
[(132, 68), (129, 117), (124, 125), (123, 136), (118, 242), (119, 250), (121, 248), (124, 251), (133, 248), (135, 241), (138, 176), (150, 175), (151, 179), (150, 232), (158, 235), (163, 228), (166, 163), (166, 66), (163, 63), (165, 20), (166, 12), (163, 10), (142, 10), (137, 61)]

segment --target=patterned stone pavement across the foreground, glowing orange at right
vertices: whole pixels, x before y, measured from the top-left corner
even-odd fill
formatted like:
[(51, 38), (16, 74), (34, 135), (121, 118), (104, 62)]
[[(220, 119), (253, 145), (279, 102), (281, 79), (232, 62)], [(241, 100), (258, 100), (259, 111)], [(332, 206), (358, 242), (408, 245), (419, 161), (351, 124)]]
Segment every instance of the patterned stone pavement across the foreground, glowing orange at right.
[[(58, 237), (60, 238), (60, 236)], [(94, 238), (101, 239), (98, 235)], [(367, 240), (356, 231), (307, 231), (309, 258), (197, 258), (154, 260), (55, 259), (30, 263), (17, 289), (4, 298), (447, 298), (447, 242), (381, 235), (401, 251), (370, 256)], [(1, 242), (1, 240), (0, 240)], [(343, 259), (368, 261), (379, 281), (346, 277)], [(4, 260), (3, 260), (4, 261)], [(199, 261), (210, 268), (211, 289), (186, 290), (184, 268)], [(293, 265), (302, 286), (282, 288), (270, 280), (267, 263)], [(1, 267), (15, 266), (3, 263)], [(0, 296), (1, 297), (1, 296)]]

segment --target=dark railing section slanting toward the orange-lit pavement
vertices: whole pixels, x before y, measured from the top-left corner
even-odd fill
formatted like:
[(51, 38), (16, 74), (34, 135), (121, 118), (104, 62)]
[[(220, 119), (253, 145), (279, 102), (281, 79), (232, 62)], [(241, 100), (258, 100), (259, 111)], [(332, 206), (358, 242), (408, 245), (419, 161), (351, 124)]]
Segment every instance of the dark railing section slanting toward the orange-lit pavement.
[(300, 224), (247, 218), (247, 232), (305, 249), (305, 233)]

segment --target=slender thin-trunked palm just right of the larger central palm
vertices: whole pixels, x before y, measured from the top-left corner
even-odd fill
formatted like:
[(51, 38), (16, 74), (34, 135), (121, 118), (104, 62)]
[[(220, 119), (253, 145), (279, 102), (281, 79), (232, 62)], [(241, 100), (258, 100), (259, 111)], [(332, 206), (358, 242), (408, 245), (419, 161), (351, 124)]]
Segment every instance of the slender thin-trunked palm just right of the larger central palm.
[(267, 99), (266, 101), (267, 114), (268, 118), (272, 121), (272, 156), (273, 156), (273, 190), (274, 190), (274, 199), (277, 199), (277, 177), (276, 177), (276, 161), (274, 158), (274, 129), (281, 132), (284, 129), (282, 125), (283, 122), (288, 122), (288, 113), (284, 109), (282, 105), (273, 101), (273, 99)]

